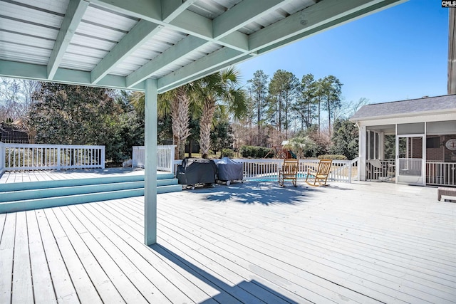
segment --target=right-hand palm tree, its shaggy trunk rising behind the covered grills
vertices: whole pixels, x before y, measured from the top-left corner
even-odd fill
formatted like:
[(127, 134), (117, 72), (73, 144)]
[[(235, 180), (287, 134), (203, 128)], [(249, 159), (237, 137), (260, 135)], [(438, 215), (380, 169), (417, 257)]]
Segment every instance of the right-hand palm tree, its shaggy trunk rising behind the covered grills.
[(214, 112), (232, 113), (239, 120), (247, 113), (247, 97), (239, 85), (239, 71), (234, 68), (208, 75), (196, 82), (196, 94), (201, 101), (201, 117), (199, 118), (199, 146), (202, 157), (207, 157), (210, 149), (210, 134), (214, 122)]

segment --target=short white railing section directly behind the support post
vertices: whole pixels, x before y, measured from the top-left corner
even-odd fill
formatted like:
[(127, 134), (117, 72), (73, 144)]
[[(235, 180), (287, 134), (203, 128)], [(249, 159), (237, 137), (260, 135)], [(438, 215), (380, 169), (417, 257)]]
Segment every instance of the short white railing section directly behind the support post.
[[(157, 146), (157, 170), (174, 173), (174, 145)], [(133, 167), (144, 168), (145, 164), (145, 147), (133, 147), (132, 165)]]

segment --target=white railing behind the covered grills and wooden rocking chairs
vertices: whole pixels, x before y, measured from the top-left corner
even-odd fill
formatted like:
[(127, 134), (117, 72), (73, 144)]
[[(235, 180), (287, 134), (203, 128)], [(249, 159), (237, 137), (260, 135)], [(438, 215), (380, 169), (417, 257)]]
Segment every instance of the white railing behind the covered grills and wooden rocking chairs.
[[(279, 178), (279, 169), (284, 163), (284, 159), (232, 159), (234, 162), (244, 164), (244, 179), (276, 181)], [(214, 159), (217, 162), (217, 159)], [(298, 180), (306, 180), (307, 169), (316, 169), (318, 159), (299, 159)], [(175, 170), (182, 163), (182, 160), (175, 160)], [(176, 172), (176, 171), (175, 171)], [(328, 180), (333, 182), (352, 182), (358, 172), (358, 158), (353, 160), (333, 160), (331, 173)]]

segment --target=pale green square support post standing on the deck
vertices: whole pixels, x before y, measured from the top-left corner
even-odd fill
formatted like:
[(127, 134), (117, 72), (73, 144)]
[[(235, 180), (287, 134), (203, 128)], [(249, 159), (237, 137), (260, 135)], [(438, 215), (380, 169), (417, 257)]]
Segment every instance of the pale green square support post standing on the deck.
[(144, 243), (157, 243), (157, 80), (145, 80)]

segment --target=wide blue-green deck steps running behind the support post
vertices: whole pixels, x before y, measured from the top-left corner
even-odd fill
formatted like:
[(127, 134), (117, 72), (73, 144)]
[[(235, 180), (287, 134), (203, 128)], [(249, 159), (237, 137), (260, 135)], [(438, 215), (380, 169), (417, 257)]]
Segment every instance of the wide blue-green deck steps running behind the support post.
[[(157, 194), (182, 191), (172, 174), (157, 175)], [(0, 185), (0, 214), (144, 195), (144, 175)]]

